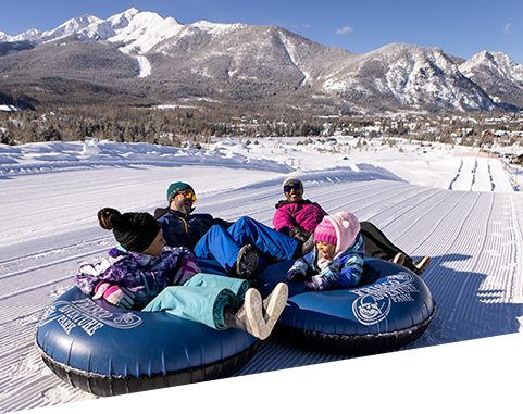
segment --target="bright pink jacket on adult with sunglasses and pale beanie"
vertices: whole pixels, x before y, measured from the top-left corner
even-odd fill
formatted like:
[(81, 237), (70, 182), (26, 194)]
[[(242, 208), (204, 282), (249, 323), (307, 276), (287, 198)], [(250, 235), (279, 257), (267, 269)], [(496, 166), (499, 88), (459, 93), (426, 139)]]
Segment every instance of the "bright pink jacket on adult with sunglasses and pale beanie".
[(290, 229), (296, 226), (301, 226), (307, 231), (312, 233), (326, 215), (327, 213), (320, 204), (310, 200), (303, 200), (300, 203), (289, 203), (283, 200), (276, 204), (273, 226), (287, 236)]

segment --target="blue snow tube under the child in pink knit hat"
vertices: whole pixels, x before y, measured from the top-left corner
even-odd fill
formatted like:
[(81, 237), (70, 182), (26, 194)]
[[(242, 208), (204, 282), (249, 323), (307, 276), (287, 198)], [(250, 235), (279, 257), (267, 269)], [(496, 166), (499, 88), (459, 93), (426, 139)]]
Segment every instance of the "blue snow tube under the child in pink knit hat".
[[(287, 281), (294, 261), (270, 266), (259, 278), (265, 297), (278, 281)], [(275, 336), (294, 346), (334, 354), (390, 351), (418, 339), (434, 317), (436, 306), (425, 283), (409, 269), (365, 258), (360, 286), (311, 291), (287, 283), (289, 299)]]

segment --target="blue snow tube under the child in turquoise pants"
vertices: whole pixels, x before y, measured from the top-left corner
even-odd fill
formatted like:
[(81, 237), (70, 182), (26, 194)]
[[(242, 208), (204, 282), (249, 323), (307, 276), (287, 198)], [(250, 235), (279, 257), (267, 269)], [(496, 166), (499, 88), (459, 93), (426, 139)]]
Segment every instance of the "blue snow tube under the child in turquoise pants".
[(74, 287), (46, 310), (36, 343), (43, 362), (70, 385), (114, 400), (147, 400), (228, 378), (259, 341), (165, 312), (122, 310)]

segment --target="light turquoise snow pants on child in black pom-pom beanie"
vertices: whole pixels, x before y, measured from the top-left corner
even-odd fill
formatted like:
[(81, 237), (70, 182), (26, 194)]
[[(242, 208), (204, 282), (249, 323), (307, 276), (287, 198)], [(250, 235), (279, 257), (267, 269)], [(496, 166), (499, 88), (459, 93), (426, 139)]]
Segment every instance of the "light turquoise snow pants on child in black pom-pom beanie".
[(183, 286), (167, 286), (142, 312), (165, 311), (224, 330), (227, 328), (223, 319), (224, 308), (239, 309), (249, 288), (247, 280), (199, 273)]

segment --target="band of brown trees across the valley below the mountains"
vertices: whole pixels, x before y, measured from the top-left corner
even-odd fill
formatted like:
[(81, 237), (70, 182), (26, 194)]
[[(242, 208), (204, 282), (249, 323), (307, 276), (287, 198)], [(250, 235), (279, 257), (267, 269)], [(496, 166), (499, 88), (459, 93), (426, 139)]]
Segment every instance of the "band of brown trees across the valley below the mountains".
[(5, 145), (75, 141), (94, 137), (117, 142), (180, 147), (186, 141), (208, 143), (211, 137), (311, 138), (335, 134), (363, 139), (384, 136), (468, 146), (512, 145), (521, 140), (515, 135), (496, 137), (485, 134), (487, 129), (498, 133), (522, 130), (523, 118), (520, 120), (516, 114), (495, 121), (480, 114), (319, 117), (274, 112), (233, 116), (215, 110), (154, 110), (113, 105), (0, 112), (0, 142)]

